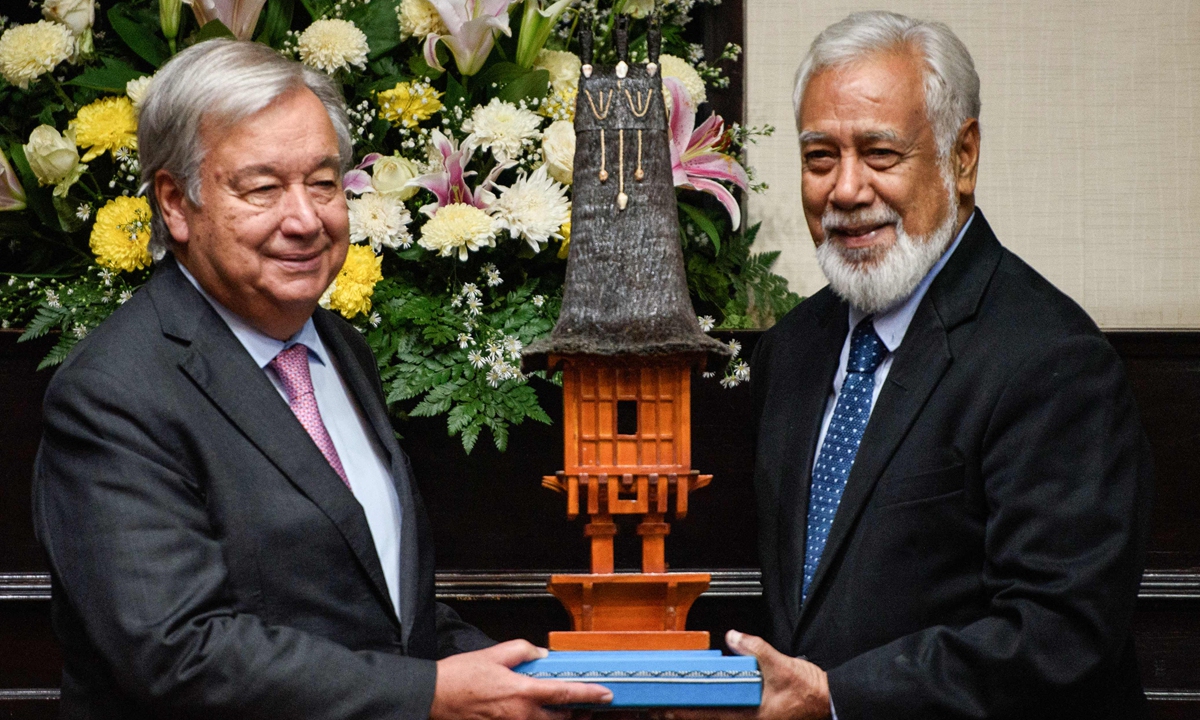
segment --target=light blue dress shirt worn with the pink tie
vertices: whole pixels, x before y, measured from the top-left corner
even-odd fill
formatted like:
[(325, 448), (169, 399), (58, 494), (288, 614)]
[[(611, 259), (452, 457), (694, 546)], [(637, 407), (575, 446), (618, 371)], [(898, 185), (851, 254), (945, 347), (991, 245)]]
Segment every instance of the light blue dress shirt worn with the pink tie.
[(284, 402), (287, 402), (288, 396), (283, 390), (283, 384), (275, 371), (268, 367), (268, 364), (282, 350), (296, 343), (302, 343), (308, 348), (308, 372), (312, 376), (317, 409), (320, 410), (320, 419), (325, 422), (330, 439), (334, 440), (334, 448), (342, 461), (350, 491), (366, 514), (367, 526), (371, 527), (371, 538), (374, 540), (379, 564), (383, 566), (383, 577), (388, 583), (388, 595), (391, 598), (392, 608), (398, 617), (401, 515), (400, 498), (396, 496), (396, 486), (388, 468), (388, 454), (379, 445), (370, 421), (354, 402), (354, 396), (334, 366), (312, 318), (308, 318), (304, 328), (289, 337), (287, 342), (281, 342), (256, 330), (250, 323), (217, 302), (182, 264), (179, 265), (179, 269), (184, 272), (184, 277), (204, 295), (212, 310), (217, 311), (217, 314), (229, 325), (229, 330), (246, 348), (254, 362), (263, 368)]

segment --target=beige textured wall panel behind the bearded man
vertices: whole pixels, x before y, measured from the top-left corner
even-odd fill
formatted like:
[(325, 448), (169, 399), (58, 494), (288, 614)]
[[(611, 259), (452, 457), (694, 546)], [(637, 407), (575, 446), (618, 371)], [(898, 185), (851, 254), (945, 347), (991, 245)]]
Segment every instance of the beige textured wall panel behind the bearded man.
[[(799, 208), (792, 74), (840, 0), (746, 0), (749, 200), (792, 288), (824, 284)], [(895, 0), (962, 38), (983, 83), (976, 198), (1006, 246), (1104, 328), (1200, 328), (1200, 2)]]

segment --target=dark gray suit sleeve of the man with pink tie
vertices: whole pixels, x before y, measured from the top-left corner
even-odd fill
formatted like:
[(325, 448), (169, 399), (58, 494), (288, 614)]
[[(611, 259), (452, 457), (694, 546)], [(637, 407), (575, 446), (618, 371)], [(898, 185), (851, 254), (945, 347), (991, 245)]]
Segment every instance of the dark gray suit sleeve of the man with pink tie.
[(56, 587), (115, 684), (184, 716), (427, 718), (432, 660), (353, 652), (238, 611), (203, 487), (156, 442), (170, 420), (132, 409), (151, 391), (62, 368), (35, 469)]

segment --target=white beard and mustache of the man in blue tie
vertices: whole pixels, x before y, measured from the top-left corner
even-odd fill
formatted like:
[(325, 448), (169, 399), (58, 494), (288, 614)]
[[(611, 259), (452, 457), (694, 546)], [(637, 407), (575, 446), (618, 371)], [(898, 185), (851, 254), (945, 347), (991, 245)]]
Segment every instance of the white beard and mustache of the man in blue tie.
[(868, 314), (888, 310), (907, 298), (950, 245), (959, 218), (958, 197), (953, 192), (949, 204), (942, 224), (923, 238), (907, 234), (900, 214), (887, 204), (853, 212), (827, 209), (821, 216), (826, 238), (830, 227), (894, 223), (896, 232), (895, 244), (886, 250), (848, 248), (829, 240), (818, 245), (817, 263), (829, 287)]

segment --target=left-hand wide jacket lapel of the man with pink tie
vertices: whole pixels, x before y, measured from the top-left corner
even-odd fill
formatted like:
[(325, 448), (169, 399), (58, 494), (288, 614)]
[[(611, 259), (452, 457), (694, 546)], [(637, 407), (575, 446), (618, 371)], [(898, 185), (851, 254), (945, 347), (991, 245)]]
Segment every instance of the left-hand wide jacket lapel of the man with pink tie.
[(163, 332), (190, 347), (180, 368), (221, 413), (337, 527), (389, 608), (388, 584), (362, 506), (296, 421), (292, 409), (224, 320), (167, 259), (148, 288)]

